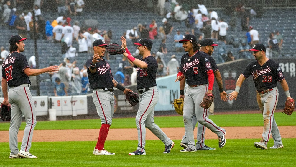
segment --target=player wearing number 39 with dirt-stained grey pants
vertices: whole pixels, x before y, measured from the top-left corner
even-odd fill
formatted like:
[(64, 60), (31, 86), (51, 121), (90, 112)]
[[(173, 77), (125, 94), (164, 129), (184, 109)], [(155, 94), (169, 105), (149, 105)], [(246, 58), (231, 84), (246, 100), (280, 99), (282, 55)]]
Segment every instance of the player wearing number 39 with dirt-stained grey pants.
[(269, 141), (270, 133), (274, 139), (274, 146), (271, 149), (283, 148), (281, 141), (281, 134), (274, 119), (274, 111), (279, 99), (279, 90), (277, 82), (281, 83), (281, 87), (285, 91), (287, 100), (291, 99), (289, 93), (289, 86), (281, 71), (278, 63), (266, 57), (266, 48), (261, 43), (256, 43), (252, 49), (254, 62), (250, 63), (246, 69), (240, 74), (237, 79), (235, 90), (230, 94), (229, 100), (237, 100), (237, 95), (242, 83), (245, 79), (252, 76), (257, 92), (257, 102), (260, 111), (263, 114), (263, 134), (260, 142), (255, 142), (256, 148), (267, 149), (267, 142)]

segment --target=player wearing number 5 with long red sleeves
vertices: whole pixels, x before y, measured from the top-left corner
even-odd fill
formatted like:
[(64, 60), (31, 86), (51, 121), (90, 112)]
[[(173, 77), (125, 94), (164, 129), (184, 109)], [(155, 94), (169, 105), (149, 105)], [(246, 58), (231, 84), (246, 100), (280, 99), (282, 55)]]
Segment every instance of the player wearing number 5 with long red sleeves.
[[(185, 34), (179, 42), (183, 43), (185, 52), (188, 52), (181, 58), (181, 65), (175, 81), (180, 81), (180, 98), (184, 98), (183, 119), (188, 141), (188, 147), (180, 152), (197, 151), (193, 136), (192, 112), (196, 115), (198, 123), (218, 135), (218, 145), (222, 148), (226, 143), (225, 129), (207, 118), (208, 110), (199, 106), (205, 94), (212, 93), (213, 90), (214, 74), (209, 61), (210, 56), (198, 51), (197, 38), (192, 34)], [(188, 88), (184, 95), (185, 82)]]

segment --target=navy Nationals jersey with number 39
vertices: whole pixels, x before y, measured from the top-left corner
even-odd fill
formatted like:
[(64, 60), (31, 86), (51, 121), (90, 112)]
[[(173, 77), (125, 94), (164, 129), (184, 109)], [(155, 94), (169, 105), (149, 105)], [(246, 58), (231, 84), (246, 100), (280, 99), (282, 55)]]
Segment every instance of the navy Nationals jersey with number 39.
[(257, 91), (274, 88), (278, 81), (285, 79), (279, 64), (271, 59), (268, 59), (263, 66), (260, 66), (258, 61), (250, 63), (242, 75), (245, 78), (252, 75)]

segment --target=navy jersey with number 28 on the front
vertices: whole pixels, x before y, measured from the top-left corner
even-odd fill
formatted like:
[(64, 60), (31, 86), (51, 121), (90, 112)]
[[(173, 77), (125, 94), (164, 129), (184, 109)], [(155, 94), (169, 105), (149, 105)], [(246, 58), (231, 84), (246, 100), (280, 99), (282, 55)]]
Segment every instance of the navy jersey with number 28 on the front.
[(156, 71), (157, 71), (157, 61), (153, 56), (148, 56), (141, 61), (147, 63), (147, 69), (141, 69), (137, 67), (137, 89), (151, 88), (156, 86)]

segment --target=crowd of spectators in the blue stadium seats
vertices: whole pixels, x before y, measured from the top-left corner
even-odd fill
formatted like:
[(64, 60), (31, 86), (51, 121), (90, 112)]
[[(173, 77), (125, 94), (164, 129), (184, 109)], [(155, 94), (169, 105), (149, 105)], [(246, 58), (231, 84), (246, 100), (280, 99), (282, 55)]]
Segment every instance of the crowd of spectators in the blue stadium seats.
[[(29, 9), (25, 6), (16, 9), (11, 4), (11, 1), (2, 1), (1, 25), (10, 29), (16, 29), (20, 36), (30, 39), (34, 38), (32, 30), (35, 27), (36, 38), (61, 44), (61, 53), (64, 58), (75, 57), (76, 53), (93, 53), (92, 43), (96, 39), (103, 39), (106, 44), (110, 43), (112, 39), (111, 30), (99, 30), (98, 27), (81, 27), (82, 24), (76, 20), (73, 20), (74, 25), (71, 25), (72, 16), (83, 15), (83, 8), (85, 6), (83, 0), (53, 1), (59, 14), (59, 17), (54, 20), (44, 20), (42, 17), (42, 9), (44, 9), (42, 8), (42, 3), (43, 1), (39, 3), (36, 0)], [(186, 2), (169, 0), (163, 1), (163, 4), (158, 4), (157, 7), (160, 15), (163, 16), (162, 20), (159, 20), (162, 24), (157, 25), (156, 20), (151, 20), (149, 25), (132, 25), (130, 29), (124, 32), (126, 39), (132, 43), (138, 42), (141, 38), (162, 41), (160, 46), (154, 45), (157, 50), (154, 53), (152, 52), (152, 55), (155, 56), (158, 62), (157, 77), (177, 73), (178, 60), (176, 55), (169, 54), (167, 42), (174, 45), (174, 50), (170, 51), (184, 52), (182, 44), (178, 42), (183, 38), (184, 34), (194, 34), (199, 41), (205, 38), (212, 38), (224, 44), (230, 44), (227, 38), (227, 31), (229, 29), (231, 31), (241, 31), (243, 34), (246, 32), (246, 39), (239, 39), (237, 43), (237, 47), (239, 47), (238, 53), (226, 51), (224, 44), (221, 44), (219, 48), (217, 47), (218, 50), (215, 52), (218, 53), (218, 56), (215, 57), (215, 60), (218, 63), (233, 61), (239, 58), (253, 58), (249, 49), (253, 47), (253, 44), (262, 41), (262, 39), (259, 40), (257, 27), (250, 26), (249, 24), (250, 19), (256, 15), (256, 12), (254, 10), (247, 10), (243, 4), (238, 4), (237, 7), (233, 8), (233, 12), (229, 15), (229, 23), (226, 23), (226, 19), (220, 17), (214, 10), (207, 10), (205, 5), (198, 4), (195, 7), (190, 7)], [(237, 29), (238, 19), (241, 20), (241, 29)], [(36, 22), (35, 25), (34, 21)], [(176, 24), (183, 24), (187, 29), (176, 29), (174, 31), (174, 25)], [(267, 43), (267, 56), (276, 57), (281, 53), (283, 37), (279, 31), (271, 32)], [(2, 60), (7, 56), (5, 51), (4, 47), (1, 47)], [(106, 52), (105, 54), (105, 58), (109, 60), (108, 53)], [(168, 58), (170, 60), (165, 62), (164, 60), (168, 60)], [(135, 83), (136, 72), (124, 59), (125, 57), (123, 57), (122, 63), (119, 63), (117, 71), (113, 73), (118, 79), (116, 79), (118, 83), (126, 86)], [(70, 66), (67, 61), (69, 59), (65, 59), (65, 62), (60, 64), (61, 72), (59, 74), (51, 75), (52, 83), (55, 86), (54, 93), (58, 95), (59, 91), (64, 91), (63, 94), (67, 95), (88, 92), (89, 87), (86, 82), (87, 73), (85, 69), (80, 71), (78, 67), (75, 67), (75, 64), (71, 63), (72, 66)], [(58, 84), (58, 82), (60, 83)], [(65, 89), (62, 85), (64, 85)]]

